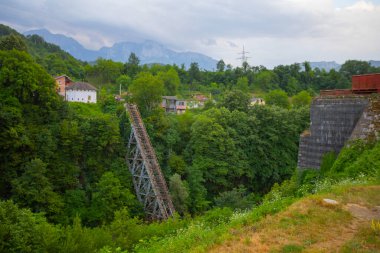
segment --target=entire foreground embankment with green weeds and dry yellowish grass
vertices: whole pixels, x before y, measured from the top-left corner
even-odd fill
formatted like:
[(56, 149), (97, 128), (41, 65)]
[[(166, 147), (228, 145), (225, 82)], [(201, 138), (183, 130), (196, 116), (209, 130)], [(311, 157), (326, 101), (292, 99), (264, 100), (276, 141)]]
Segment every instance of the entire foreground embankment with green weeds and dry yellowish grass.
[[(371, 213), (380, 206), (379, 149), (380, 142), (351, 143), (336, 160), (334, 156), (325, 157), (322, 170), (299, 171), (275, 185), (262, 204), (252, 210), (231, 215), (214, 209), (169, 236), (139, 243), (135, 251), (378, 250), (379, 232), (371, 228), (372, 220), (356, 217), (352, 209)], [(326, 204), (324, 198), (338, 204)], [(380, 220), (378, 216), (369, 217)]]

